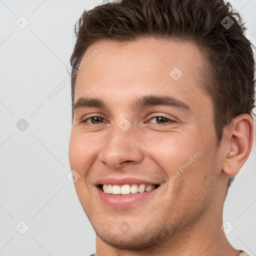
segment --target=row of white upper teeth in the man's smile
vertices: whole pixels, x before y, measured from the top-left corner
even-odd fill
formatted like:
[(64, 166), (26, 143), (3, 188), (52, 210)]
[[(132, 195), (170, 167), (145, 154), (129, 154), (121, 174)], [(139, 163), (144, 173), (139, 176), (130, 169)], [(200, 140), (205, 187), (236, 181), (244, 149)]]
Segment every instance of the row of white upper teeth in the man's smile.
[(145, 191), (150, 191), (152, 189), (154, 189), (154, 185), (150, 184), (150, 185), (145, 185), (145, 184), (125, 184), (122, 186), (119, 185), (111, 185), (111, 184), (103, 184), (103, 191), (104, 193), (108, 193), (108, 194), (129, 194), (129, 193), (142, 193)]

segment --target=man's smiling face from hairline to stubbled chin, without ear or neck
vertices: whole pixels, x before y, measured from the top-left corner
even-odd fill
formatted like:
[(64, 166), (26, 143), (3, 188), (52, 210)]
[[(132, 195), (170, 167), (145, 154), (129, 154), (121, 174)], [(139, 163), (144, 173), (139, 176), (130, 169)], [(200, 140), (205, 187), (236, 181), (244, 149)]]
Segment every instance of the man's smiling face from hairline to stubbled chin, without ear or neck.
[(160, 244), (214, 203), (221, 159), (200, 82), (204, 57), (191, 42), (154, 38), (101, 41), (82, 60), (88, 54), (69, 143), (78, 198), (107, 244)]

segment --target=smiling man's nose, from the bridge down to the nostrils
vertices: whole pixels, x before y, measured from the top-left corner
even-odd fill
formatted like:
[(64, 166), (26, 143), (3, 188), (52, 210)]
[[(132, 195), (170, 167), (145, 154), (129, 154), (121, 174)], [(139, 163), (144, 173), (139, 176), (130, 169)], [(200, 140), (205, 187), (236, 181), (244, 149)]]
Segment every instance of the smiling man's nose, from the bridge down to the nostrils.
[(125, 162), (139, 163), (143, 160), (141, 141), (135, 136), (130, 127), (127, 131), (121, 130), (117, 125), (112, 130), (111, 138), (101, 148), (98, 158), (111, 168), (123, 166)]

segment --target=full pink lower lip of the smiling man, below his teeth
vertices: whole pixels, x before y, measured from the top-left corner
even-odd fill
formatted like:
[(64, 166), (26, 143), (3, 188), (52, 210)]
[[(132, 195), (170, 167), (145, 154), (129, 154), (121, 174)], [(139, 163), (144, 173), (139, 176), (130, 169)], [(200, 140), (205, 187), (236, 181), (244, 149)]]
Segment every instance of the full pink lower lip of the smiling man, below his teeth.
[(147, 199), (149, 201), (149, 196), (151, 193), (154, 193), (158, 187), (142, 192), (142, 193), (134, 193), (134, 194), (127, 194), (127, 195), (113, 195), (104, 193), (99, 187), (97, 187), (98, 195), (100, 199), (107, 205), (112, 207), (126, 207), (133, 205), (135, 203), (141, 203), (142, 200)]

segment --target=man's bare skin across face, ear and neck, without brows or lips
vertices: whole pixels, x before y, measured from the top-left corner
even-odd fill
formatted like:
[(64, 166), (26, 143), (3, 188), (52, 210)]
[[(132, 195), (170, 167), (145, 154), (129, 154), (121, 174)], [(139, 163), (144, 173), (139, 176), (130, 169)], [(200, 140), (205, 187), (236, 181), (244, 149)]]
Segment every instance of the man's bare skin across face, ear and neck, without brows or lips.
[[(75, 110), (69, 161), (80, 175), (74, 185), (96, 232), (97, 255), (238, 255), (221, 229), (222, 212), (228, 177), (250, 153), (251, 117), (235, 117), (216, 147), (213, 104), (200, 82), (205, 57), (192, 42), (98, 41), (84, 57), (95, 48), (98, 54), (77, 74), (74, 102), (98, 98), (107, 107)], [(176, 81), (169, 75), (175, 66), (183, 73)], [(147, 95), (175, 97), (190, 110), (131, 106)], [(92, 116), (102, 118), (92, 123)], [(118, 126), (123, 118), (131, 124), (125, 132)], [(197, 151), (201, 155), (154, 202), (116, 208), (97, 195), (95, 181), (110, 175), (147, 178), (161, 187)], [(118, 228), (123, 221), (130, 226), (126, 233)]]

